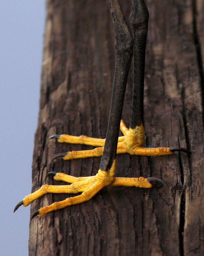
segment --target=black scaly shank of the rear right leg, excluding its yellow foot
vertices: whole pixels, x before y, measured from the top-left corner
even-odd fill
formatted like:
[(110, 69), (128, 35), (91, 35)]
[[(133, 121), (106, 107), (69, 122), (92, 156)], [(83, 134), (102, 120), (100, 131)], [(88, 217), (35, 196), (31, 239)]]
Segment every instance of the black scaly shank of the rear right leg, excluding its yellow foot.
[(143, 125), (144, 67), (149, 12), (144, 1), (133, 1), (130, 24), (134, 37), (134, 87), (130, 128)]

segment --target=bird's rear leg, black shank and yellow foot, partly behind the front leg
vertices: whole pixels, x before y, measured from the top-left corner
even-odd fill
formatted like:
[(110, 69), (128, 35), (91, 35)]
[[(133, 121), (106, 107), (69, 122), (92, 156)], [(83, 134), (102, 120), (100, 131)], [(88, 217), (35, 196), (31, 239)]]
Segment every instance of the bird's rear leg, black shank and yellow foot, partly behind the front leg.
[[(114, 2), (114, 1), (110, 1)], [(112, 5), (114, 6), (114, 4)], [(114, 7), (113, 7), (114, 9)], [(113, 16), (115, 13), (113, 10)], [(125, 135), (118, 138), (117, 154), (129, 153), (130, 155), (145, 155), (145, 156), (162, 156), (171, 155), (175, 151), (188, 152), (185, 148), (143, 148), (144, 144), (144, 126), (143, 126), (143, 98), (144, 98), (144, 66), (145, 66), (145, 48), (146, 37), (148, 31), (149, 13), (144, 1), (133, 1), (132, 13), (130, 15), (130, 24), (132, 26), (134, 38), (134, 87), (132, 110), (130, 117), (130, 128), (126, 127), (124, 122), (120, 122), (120, 130)], [(114, 18), (113, 18), (114, 20)], [(113, 21), (114, 23), (114, 21)], [(115, 23), (114, 23), (115, 24)], [(117, 28), (116, 28), (117, 29)], [(118, 31), (120, 35), (120, 31)], [(116, 32), (117, 34), (117, 32)], [(131, 35), (132, 36), (132, 35)], [(116, 35), (117, 37), (117, 35)], [(130, 38), (130, 36), (129, 36)], [(118, 40), (119, 42), (120, 40)], [(118, 44), (121, 47), (121, 44)], [(118, 51), (117, 49), (116, 51)], [(118, 51), (118, 53), (120, 50)], [(117, 56), (116, 56), (117, 57)], [(118, 106), (118, 103), (117, 103)], [(53, 159), (62, 157), (64, 160), (75, 158), (86, 158), (91, 156), (102, 156), (105, 140), (95, 139), (86, 136), (70, 136), (70, 135), (53, 135), (50, 138), (57, 138), (58, 142), (79, 143), (96, 146), (92, 150), (70, 151), (60, 153)]]

